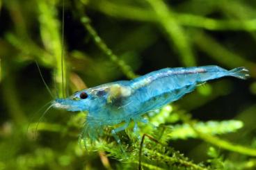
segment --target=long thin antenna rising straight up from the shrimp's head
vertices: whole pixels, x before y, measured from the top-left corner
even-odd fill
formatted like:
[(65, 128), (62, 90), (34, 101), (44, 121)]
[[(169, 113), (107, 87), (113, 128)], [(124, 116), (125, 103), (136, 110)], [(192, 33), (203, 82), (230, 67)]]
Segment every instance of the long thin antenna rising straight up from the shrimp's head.
[(62, 96), (63, 98), (65, 98), (63, 62), (64, 62), (64, 0), (62, 1), (61, 79), (62, 79)]

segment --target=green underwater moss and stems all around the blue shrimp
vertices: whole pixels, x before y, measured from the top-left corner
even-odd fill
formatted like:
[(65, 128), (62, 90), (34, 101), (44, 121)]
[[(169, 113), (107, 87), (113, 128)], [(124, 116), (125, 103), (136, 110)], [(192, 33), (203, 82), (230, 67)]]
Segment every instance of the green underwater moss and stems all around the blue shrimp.
[[(241, 0), (0, 0), (0, 169), (256, 169), (255, 18)], [(118, 133), (124, 153), (113, 127), (79, 139), (86, 112), (42, 117), (52, 99), (35, 61), (54, 97), (164, 67), (243, 66), (251, 78), (148, 112), (141, 138), (133, 123)]]

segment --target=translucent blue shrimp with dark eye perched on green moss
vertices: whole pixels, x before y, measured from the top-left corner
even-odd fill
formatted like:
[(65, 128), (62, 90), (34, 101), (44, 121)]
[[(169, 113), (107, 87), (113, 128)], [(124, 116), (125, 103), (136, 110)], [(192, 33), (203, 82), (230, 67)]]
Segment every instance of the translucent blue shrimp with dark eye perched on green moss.
[(141, 115), (177, 101), (184, 94), (192, 92), (197, 85), (221, 78), (234, 76), (246, 79), (249, 74), (245, 67), (230, 71), (218, 66), (178, 67), (152, 71), (134, 80), (106, 83), (75, 92), (65, 99), (56, 99), (54, 108), (68, 111), (88, 111), (86, 124), (81, 136), (97, 139), (104, 126), (125, 122), (111, 131), (118, 144), (118, 133), (129, 126), (129, 122), (142, 121)]

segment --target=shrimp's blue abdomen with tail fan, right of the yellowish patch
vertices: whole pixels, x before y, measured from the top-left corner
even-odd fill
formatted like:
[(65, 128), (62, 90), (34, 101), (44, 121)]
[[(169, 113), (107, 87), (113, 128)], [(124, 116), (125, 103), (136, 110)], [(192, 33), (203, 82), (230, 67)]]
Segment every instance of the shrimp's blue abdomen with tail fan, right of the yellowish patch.
[(142, 108), (140, 111), (147, 112), (180, 99), (207, 80), (223, 76), (245, 79), (249, 76), (247, 71), (244, 67), (228, 71), (215, 65), (160, 69), (132, 80), (131, 87), (134, 92), (131, 98), (140, 101), (136, 105)]

